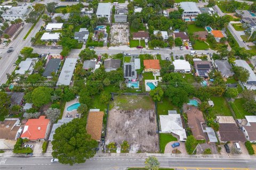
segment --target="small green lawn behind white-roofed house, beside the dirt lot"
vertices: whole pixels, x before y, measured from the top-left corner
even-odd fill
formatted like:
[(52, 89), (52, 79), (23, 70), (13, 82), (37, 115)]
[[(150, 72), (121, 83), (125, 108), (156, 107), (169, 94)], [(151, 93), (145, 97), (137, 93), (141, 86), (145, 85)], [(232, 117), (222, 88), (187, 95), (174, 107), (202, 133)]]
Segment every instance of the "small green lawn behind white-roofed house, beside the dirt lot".
[(157, 103), (157, 114), (158, 115), (167, 115), (168, 111), (177, 111), (180, 113), (180, 109), (174, 106), (171, 100), (168, 97), (164, 97), (162, 101)]

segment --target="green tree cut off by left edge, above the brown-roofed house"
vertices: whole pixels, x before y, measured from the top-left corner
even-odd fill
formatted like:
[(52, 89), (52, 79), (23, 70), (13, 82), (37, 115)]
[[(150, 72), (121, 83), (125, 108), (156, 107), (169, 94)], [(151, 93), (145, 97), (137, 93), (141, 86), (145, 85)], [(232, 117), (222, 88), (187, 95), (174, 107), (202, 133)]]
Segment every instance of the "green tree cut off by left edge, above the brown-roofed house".
[(0, 91), (0, 116), (6, 116), (9, 114), (9, 106), (11, 104), (11, 97), (5, 92)]

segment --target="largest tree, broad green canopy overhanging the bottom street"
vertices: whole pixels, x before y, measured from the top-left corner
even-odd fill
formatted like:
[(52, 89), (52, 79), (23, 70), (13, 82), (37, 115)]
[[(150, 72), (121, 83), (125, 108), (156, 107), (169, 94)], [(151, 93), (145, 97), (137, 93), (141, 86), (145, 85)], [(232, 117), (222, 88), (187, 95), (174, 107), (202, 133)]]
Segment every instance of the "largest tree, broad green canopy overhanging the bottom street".
[(52, 156), (62, 164), (85, 163), (96, 153), (98, 142), (86, 132), (86, 120), (75, 118), (56, 129), (52, 141)]

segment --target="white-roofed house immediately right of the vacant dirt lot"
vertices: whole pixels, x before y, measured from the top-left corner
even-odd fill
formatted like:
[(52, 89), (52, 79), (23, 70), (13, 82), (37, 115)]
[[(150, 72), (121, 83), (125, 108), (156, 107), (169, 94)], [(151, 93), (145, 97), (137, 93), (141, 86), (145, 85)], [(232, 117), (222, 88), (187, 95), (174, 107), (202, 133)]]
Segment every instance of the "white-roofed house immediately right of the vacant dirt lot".
[(180, 114), (159, 115), (161, 132), (179, 135), (180, 141), (186, 141), (187, 134), (183, 128)]

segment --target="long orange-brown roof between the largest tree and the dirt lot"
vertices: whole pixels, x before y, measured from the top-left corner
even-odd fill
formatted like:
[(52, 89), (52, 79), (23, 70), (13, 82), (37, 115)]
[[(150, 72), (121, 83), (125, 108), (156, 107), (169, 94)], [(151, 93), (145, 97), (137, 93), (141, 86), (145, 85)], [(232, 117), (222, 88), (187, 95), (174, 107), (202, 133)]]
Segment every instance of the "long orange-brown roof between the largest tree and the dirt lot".
[(92, 139), (100, 141), (104, 112), (89, 112), (86, 131)]

